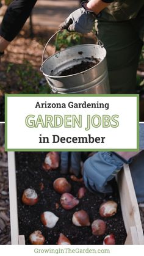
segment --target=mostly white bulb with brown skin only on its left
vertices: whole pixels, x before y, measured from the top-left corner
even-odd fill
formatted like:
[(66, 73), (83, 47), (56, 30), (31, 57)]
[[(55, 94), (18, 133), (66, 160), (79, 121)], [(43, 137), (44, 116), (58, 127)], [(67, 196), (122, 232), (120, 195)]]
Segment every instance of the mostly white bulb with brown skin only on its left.
[(52, 229), (58, 220), (59, 218), (54, 213), (51, 213), (51, 211), (45, 211), (41, 214), (41, 222), (46, 227), (49, 227), (49, 229)]

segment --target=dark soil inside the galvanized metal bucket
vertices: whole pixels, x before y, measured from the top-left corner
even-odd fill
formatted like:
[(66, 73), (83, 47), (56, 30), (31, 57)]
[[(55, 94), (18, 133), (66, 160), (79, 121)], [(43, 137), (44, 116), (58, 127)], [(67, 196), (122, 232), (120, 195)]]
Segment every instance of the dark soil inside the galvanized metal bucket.
[(97, 65), (98, 63), (99, 63), (99, 60), (95, 59), (95, 58), (93, 58), (93, 62), (92, 61), (88, 62), (86, 60), (82, 60), (81, 64), (77, 64), (71, 68), (68, 68), (67, 70), (63, 70), (59, 74), (59, 76), (70, 76), (70, 75), (74, 75), (76, 73), (81, 73), (85, 70), (92, 68), (93, 66)]

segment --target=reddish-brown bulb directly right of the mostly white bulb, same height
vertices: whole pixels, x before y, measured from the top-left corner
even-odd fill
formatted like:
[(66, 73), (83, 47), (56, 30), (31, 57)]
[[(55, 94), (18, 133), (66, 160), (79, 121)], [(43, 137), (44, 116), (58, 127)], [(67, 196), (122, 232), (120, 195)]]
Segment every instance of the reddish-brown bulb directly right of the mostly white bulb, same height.
[(72, 222), (78, 227), (90, 225), (89, 216), (84, 210), (76, 211), (73, 214)]

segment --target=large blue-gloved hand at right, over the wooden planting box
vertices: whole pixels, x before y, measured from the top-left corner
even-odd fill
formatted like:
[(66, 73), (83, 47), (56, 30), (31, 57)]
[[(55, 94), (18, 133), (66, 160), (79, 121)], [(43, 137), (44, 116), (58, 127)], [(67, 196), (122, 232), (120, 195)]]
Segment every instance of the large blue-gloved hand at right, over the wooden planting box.
[(112, 187), (107, 181), (120, 171), (124, 163), (131, 163), (112, 152), (98, 152), (84, 163), (84, 183), (92, 192), (111, 193)]

